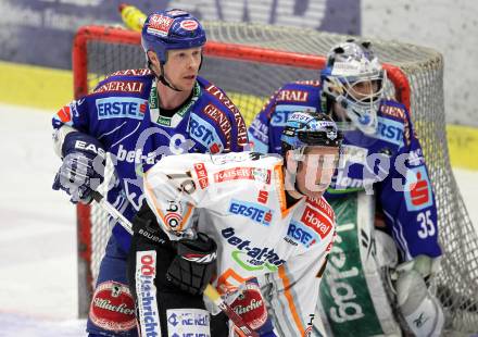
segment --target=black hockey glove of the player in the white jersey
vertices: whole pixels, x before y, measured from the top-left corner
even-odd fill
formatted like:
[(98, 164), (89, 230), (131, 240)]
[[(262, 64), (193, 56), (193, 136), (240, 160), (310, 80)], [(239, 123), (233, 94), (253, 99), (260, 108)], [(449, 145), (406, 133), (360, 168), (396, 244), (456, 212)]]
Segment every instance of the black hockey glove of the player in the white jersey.
[(179, 289), (201, 295), (216, 270), (217, 246), (203, 233), (193, 240), (177, 242), (177, 255), (166, 273), (166, 279)]

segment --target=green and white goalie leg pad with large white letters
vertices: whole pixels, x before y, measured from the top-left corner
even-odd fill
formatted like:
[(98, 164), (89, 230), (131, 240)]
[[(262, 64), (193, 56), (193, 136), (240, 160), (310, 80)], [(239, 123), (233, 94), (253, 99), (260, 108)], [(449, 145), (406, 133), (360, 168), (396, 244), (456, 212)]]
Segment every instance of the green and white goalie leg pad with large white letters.
[(383, 240), (377, 240), (373, 227), (374, 199), (351, 194), (329, 202), (337, 215), (337, 237), (317, 304), (325, 334), (349, 336), (353, 332), (355, 337), (365, 337), (400, 333), (380, 270), (380, 264), (395, 259), (391, 250), (388, 259), (377, 262), (377, 251), (383, 254), (385, 250), (377, 248)]

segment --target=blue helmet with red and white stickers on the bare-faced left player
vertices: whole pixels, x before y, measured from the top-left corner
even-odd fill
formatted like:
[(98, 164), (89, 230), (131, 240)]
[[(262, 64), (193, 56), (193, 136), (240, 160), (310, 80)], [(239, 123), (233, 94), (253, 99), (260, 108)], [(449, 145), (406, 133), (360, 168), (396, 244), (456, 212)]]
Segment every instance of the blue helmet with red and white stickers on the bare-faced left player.
[(166, 63), (168, 50), (202, 47), (205, 41), (205, 32), (199, 21), (177, 9), (151, 13), (141, 30), (144, 53), (154, 51), (161, 64)]

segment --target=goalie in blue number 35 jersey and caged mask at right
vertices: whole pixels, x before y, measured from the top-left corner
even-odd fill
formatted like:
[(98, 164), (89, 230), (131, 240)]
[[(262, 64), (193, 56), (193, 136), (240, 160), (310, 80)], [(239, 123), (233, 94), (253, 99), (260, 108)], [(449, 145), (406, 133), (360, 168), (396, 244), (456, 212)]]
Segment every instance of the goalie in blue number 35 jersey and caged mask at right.
[[(289, 83), (271, 97), (252, 122), (249, 138), (254, 151), (279, 153), (285, 123), (295, 111), (324, 112), (340, 124), (345, 132), (342, 160), (326, 199), (345, 202), (361, 191), (374, 195), (375, 225), (383, 227), (400, 252), (391, 284), (397, 292), (393, 307), (401, 313), (401, 328), (416, 336), (437, 336), (443, 325), (443, 314), (426, 285), (438, 271), (441, 255), (436, 202), (410, 113), (403, 104), (385, 98), (386, 79), (386, 72), (369, 42), (348, 40), (339, 43), (328, 53), (320, 80)], [(335, 210), (340, 228), (340, 214)], [(383, 232), (376, 233), (379, 237)], [(335, 249), (338, 247), (340, 245)], [(340, 257), (343, 253), (337, 255)], [(381, 285), (380, 279), (375, 282)], [(342, 298), (337, 299), (339, 290), (334, 291), (330, 290), (335, 294), (331, 302), (341, 305), (332, 314), (332, 324), (361, 317), (361, 303), (352, 305), (355, 303), (350, 302), (354, 294), (345, 295), (349, 297), (347, 303)], [(381, 312), (381, 308), (375, 308), (375, 312)], [(330, 312), (327, 316), (330, 320)], [(381, 321), (383, 328), (385, 320)], [(354, 334), (363, 336), (360, 330), (368, 323), (358, 325), (362, 327), (353, 327)]]

